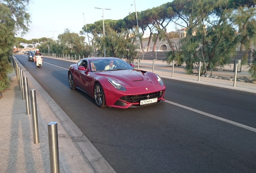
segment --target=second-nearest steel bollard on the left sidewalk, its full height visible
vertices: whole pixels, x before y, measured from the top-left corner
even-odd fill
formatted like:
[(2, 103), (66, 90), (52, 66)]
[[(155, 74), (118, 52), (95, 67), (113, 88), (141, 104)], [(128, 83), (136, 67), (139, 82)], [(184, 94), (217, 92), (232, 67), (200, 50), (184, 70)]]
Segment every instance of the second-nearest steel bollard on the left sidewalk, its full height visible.
[(30, 90), (31, 97), (31, 109), (32, 109), (32, 120), (33, 120), (33, 133), (34, 133), (34, 143), (39, 143), (39, 133), (38, 133), (38, 121), (37, 121), (37, 101), (35, 97), (35, 89)]

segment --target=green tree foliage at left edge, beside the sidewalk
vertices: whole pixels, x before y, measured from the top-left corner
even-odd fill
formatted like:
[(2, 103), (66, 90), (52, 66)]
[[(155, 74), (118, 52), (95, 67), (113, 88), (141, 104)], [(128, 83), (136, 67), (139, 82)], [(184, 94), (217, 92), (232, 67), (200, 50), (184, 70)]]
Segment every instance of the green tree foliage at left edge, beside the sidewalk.
[(17, 44), (15, 34), (27, 32), (29, 0), (2, 0), (0, 2), (0, 92), (8, 87), (8, 72), (12, 70), (12, 50)]

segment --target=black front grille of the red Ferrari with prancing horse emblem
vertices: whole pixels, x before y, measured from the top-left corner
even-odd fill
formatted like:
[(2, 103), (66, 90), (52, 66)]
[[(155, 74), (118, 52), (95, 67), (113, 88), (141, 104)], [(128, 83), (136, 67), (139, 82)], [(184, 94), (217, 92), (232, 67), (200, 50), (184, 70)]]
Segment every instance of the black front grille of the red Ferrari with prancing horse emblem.
[(139, 103), (141, 100), (147, 100), (147, 99), (153, 99), (156, 98), (159, 99), (163, 95), (163, 91), (158, 91), (155, 93), (147, 93), (143, 95), (128, 95), (120, 97), (120, 100), (129, 102), (129, 103)]

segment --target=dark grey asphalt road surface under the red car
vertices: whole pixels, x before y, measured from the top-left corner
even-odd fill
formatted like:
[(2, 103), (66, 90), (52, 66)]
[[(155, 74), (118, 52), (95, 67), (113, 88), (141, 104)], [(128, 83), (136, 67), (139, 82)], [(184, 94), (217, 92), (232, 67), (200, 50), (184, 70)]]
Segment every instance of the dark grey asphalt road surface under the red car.
[(223, 121), (256, 128), (256, 94), (164, 78), (166, 102), (101, 109), (70, 90), (72, 62), (43, 58), (37, 68), (27, 56), (15, 57), (118, 173), (256, 171), (256, 132)]

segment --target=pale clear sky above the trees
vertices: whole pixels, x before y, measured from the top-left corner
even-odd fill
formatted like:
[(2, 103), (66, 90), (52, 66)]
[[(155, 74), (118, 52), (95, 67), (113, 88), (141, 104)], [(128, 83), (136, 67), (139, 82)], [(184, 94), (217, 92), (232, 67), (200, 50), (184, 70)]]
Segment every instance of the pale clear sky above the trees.
[[(136, 11), (140, 12), (170, 2), (168, 0), (135, 0)], [(18, 37), (31, 40), (32, 38), (49, 37), (57, 40), (59, 34), (63, 34), (67, 28), (70, 32), (78, 33), (86, 24), (92, 24), (102, 20), (102, 10), (97, 8), (109, 8), (104, 10), (104, 20), (119, 20), (135, 12), (134, 0), (32, 0), (28, 13), (31, 15), (29, 32)], [(167, 32), (174, 31), (174, 27), (168, 26)]]

